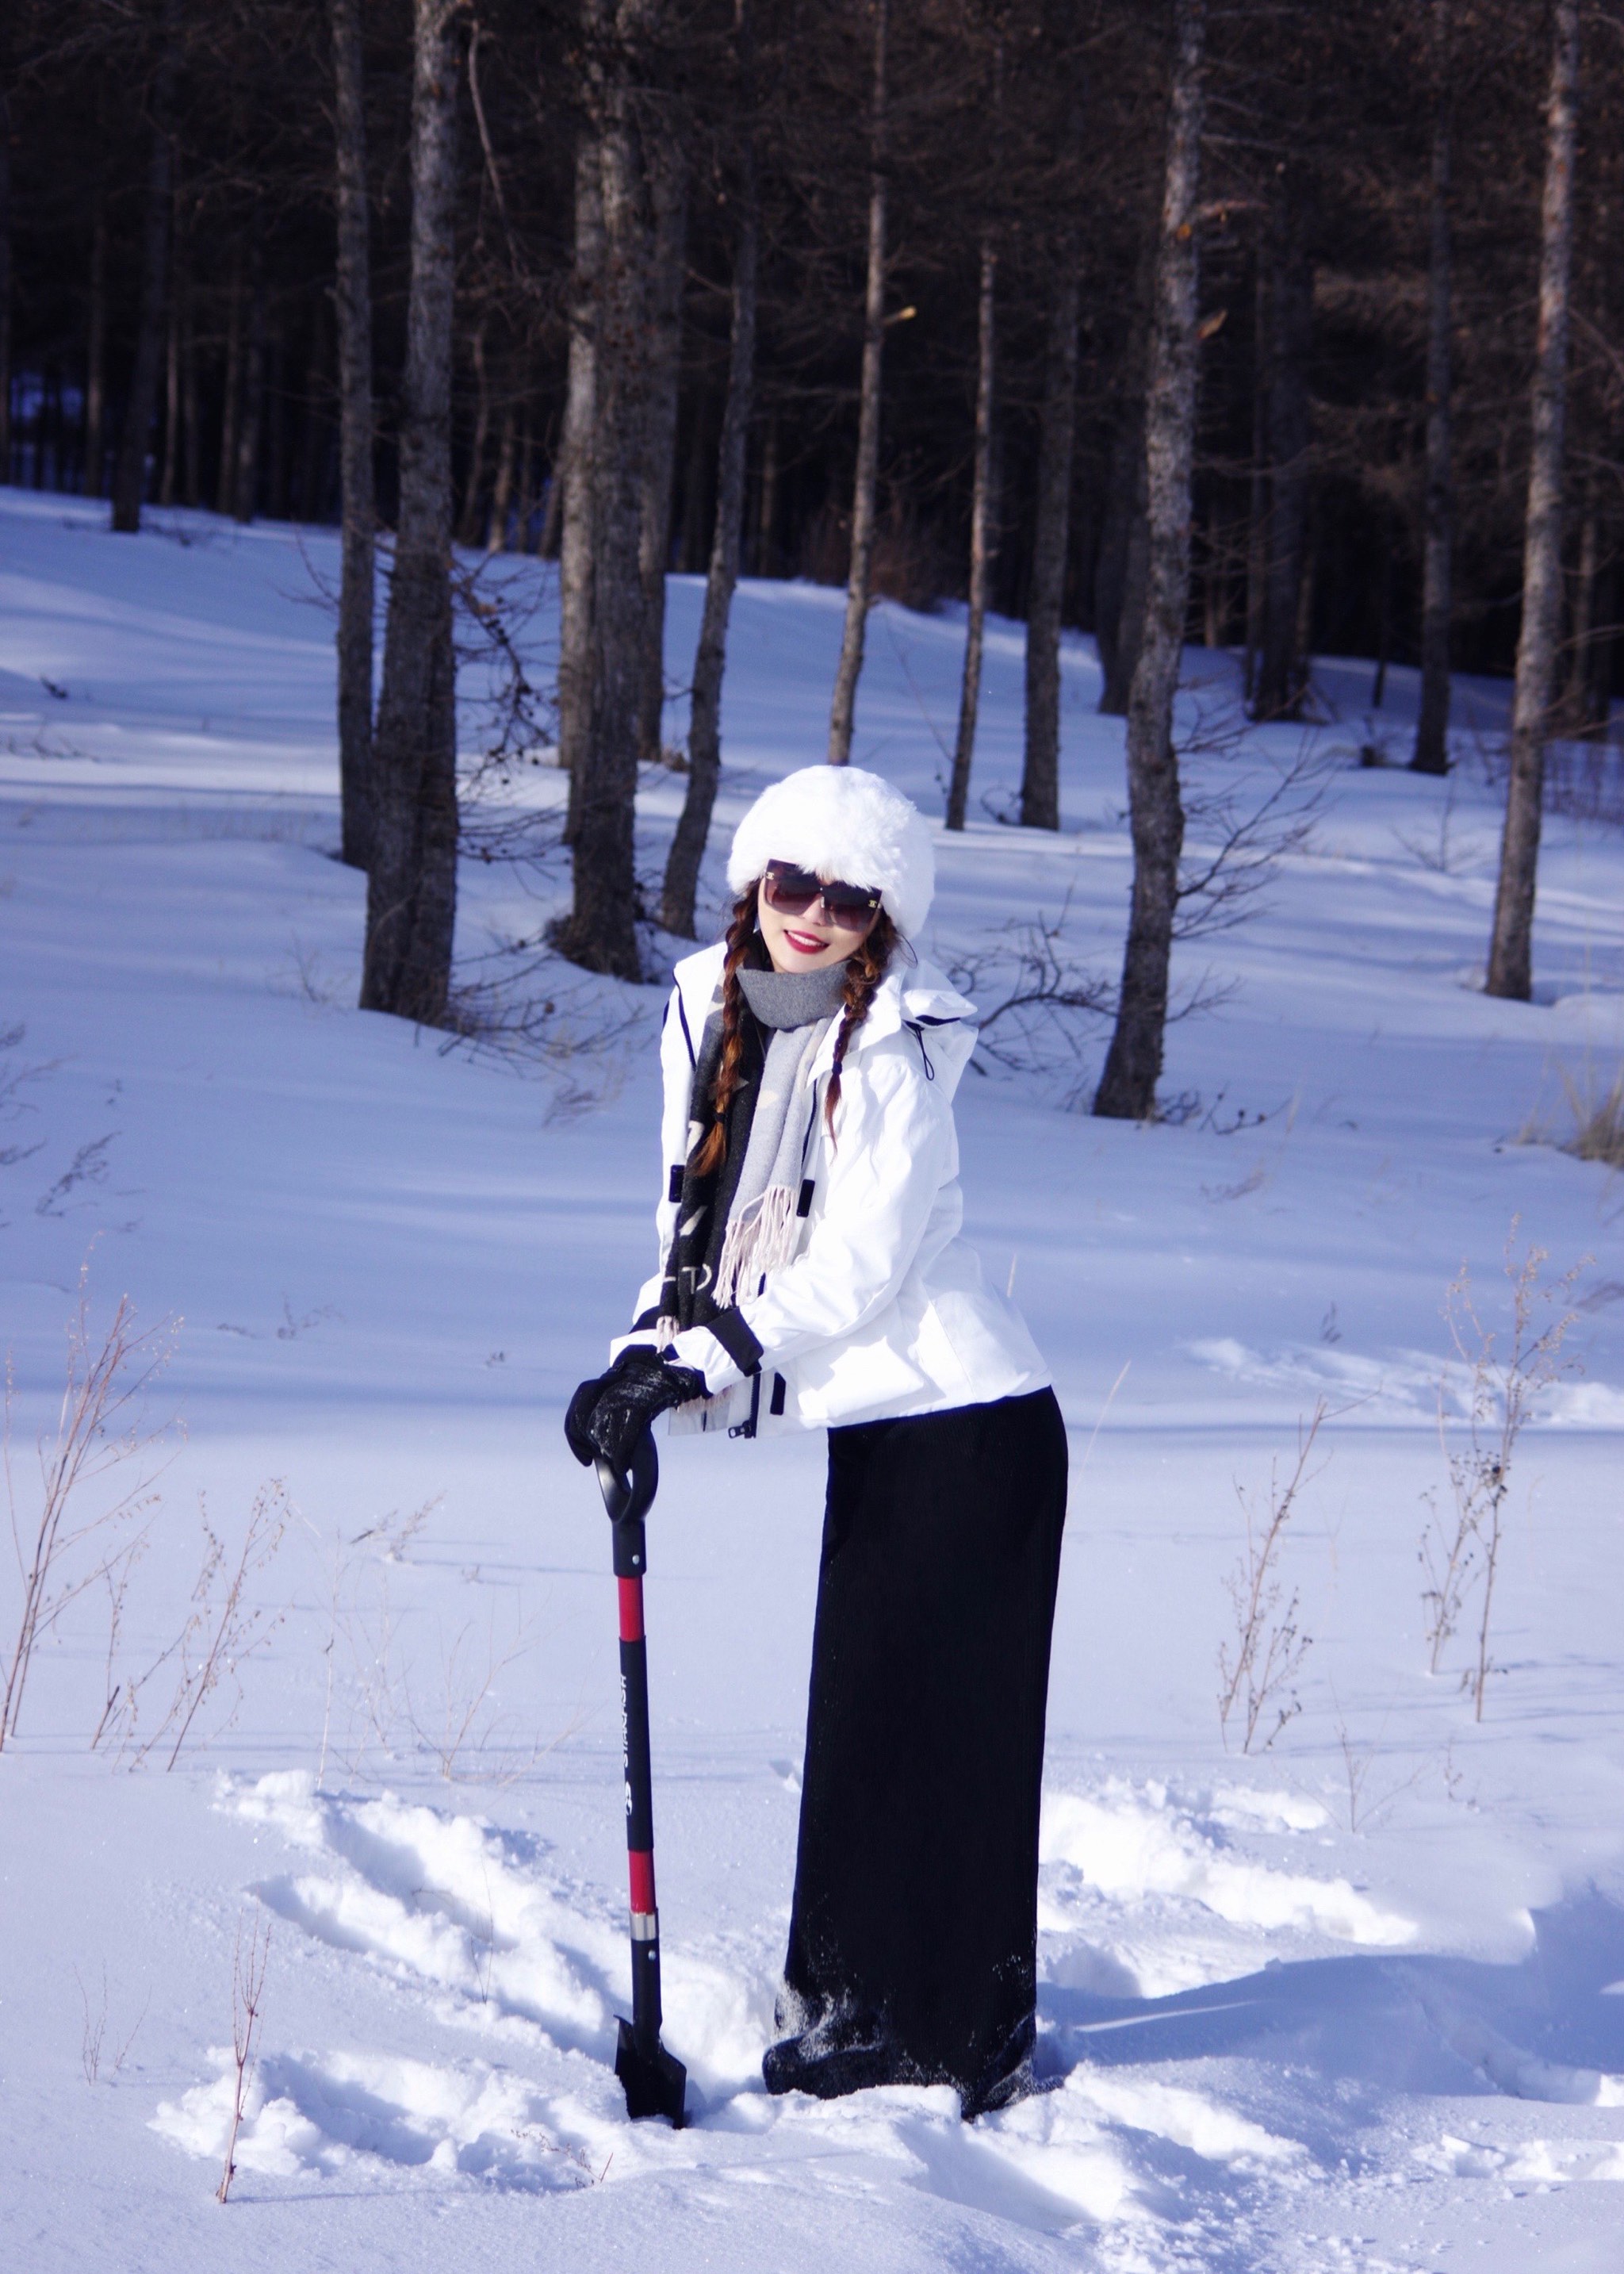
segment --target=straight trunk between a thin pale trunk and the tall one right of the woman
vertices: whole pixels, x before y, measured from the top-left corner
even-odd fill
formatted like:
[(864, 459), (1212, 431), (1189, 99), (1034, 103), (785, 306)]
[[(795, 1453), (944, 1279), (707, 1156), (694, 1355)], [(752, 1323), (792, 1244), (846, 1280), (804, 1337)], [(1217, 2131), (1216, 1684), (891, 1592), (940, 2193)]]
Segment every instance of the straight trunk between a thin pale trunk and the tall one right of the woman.
[(1060, 828), (1060, 607), (1071, 532), (1071, 450), (1078, 391), (1078, 248), (1064, 243), (1049, 302), (1044, 412), (1037, 437), (1033, 589), (1026, 603), (1026, 760), (1021, 825)]

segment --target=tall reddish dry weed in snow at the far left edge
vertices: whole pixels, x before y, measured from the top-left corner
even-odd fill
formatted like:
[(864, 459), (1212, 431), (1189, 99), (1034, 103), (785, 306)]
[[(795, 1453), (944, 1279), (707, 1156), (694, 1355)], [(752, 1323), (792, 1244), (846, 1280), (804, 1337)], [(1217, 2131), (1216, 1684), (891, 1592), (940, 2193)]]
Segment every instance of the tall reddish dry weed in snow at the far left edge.
[[(123, 1537), (123, 1526), (150, 1508), (146, 1499), (152, 1474), (141, 1462), (166, 1428), (143, 1430), (139, 1401), (168, 1362), (180, 1321), (136, 1333), (130, 1296), (118, 1298), (111, 1323), (100, 1342), (91, 1330), (86, 1273), (80, 1273), (80, 1301), (68, 1321), (68, 1378), (61, 1392), (55, 1437), (39, 1442), (39, 1517), (32, 1528), (18, 1519), (16, 1476), (11, 1464), (11, 1373), (7, 1369), (5, 1401), (5, 1483), (11, 1514), (11, 1539), (23, 1576), (16, 1642), (5, 1665), (0, 1692), (0, 1749), (16, 1737), (23, 1692), (43, 1635), (68, 1603), (86, 1587), (127, 1574), (141, 1537)], [(84, 1514), (84, 1494), (125, 1462), (139, 1469), (127, 1489)], [(80, 1553), (89, 1546), (89, 1560)], [(123, 1601), (114, 1592), (114, 1605)], [(105, 1719), (105, 1717), (102, 1717)]]

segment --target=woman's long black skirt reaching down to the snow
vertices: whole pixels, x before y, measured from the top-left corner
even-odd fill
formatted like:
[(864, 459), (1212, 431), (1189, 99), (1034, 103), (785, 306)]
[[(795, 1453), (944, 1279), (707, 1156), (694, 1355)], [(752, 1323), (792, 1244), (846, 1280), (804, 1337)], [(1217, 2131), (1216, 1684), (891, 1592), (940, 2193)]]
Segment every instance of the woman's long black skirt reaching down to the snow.
[(1064, 1508), (1051, 1389), (830, 1430), (773, 2090), (1021, 2090)]

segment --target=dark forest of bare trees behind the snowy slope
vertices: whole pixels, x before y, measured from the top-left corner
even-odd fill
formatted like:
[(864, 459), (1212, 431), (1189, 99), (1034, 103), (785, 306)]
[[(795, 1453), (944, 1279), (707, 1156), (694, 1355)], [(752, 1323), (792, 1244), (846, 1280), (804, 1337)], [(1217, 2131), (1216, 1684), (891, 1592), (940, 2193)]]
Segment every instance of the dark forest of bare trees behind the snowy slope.
[[(1581, 0), (18, 0), (0, 50), (9, 480), (343, 523), (343, 857), (362, 1003), (453, 989), (455, 546), (560, 562), (555, 684), (498, 757), (569, 769), (553, 946), (691, 935), (739, 571), (1028, 621), (1019, 812), (1058, 828), (1058, 639), (1128, 714), (1135, 898), (1096, 1112), (1155, 1107), (1187, 639), (1253, 719), (1310, 655), (1513, 673), (1490, 994), (1531, 994), (1542, 753), (1617, 671), (1624, 25)], [(687, 750), (664, 573), (707, 573)], [(382, 673), (373, 653), (387, 580)], [(466, 648), (464, 648), (466, 653)], [(487, 753), (489, 755), (489, 753)], [(657, 905), (639, 769), (689, 773)], [(1597, 757), (1597, 782), (1606, 762)], [(639, 930), (639, 926), (644, 930)]]

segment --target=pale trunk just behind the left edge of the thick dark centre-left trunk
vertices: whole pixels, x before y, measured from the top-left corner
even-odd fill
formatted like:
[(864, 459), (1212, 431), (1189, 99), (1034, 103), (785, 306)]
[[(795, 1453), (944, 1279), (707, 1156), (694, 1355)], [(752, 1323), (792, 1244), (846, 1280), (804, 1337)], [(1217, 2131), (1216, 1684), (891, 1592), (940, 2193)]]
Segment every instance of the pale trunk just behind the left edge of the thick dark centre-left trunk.
[[(600, 36), (600, 32), (598, 32)], [(557, 553), (557, 755), (569, 771), (566, 841), (575, 841), (580, 789), (591, 737), (591, 498), (598, 443), (598, 298), (603, 293), (603, 116), (600, 86), (589, 59), (589, 91), (598, 116), (582, 125), (575, 146), (575, 273), (569, 305), (569, 393), (564, 439), (553, 468), (560, 500)], [(548, 521), (553, 505), (548, 505)], [(546, 546), (546, 537), (544, 537)]]

